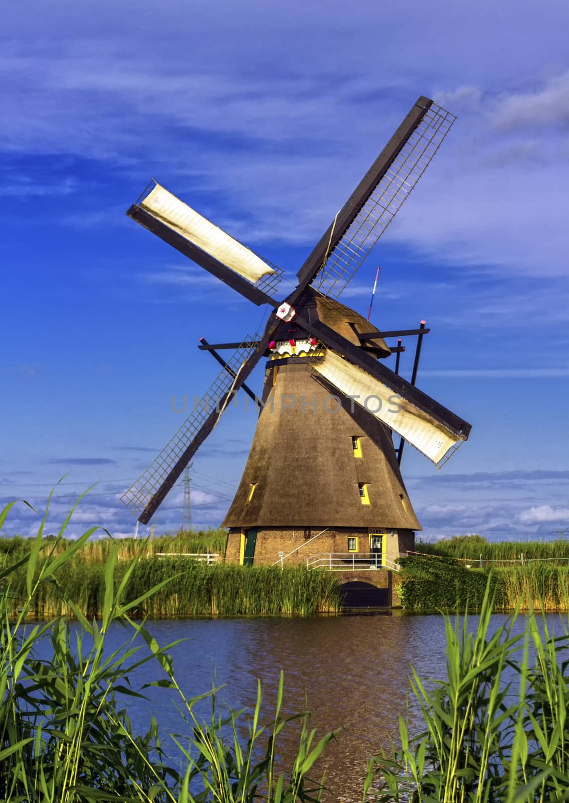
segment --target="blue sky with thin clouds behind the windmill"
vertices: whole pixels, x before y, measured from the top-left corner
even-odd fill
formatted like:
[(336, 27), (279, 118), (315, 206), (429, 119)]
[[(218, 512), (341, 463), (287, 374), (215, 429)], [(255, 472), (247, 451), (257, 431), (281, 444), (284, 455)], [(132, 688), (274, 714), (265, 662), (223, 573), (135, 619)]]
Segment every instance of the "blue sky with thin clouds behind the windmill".
[[(217, 374), (198, 338), (264, 323), (125, 217), (150, 178), (293, 274), (424, 94), (457, 123), (343, 300), (367, 314), (380, 264), (373, 323), (427, 320), (418, 384), (473, 424), (440, 472), (404, 455), (425, 533), (569, 527), (568, 28), (566, 3), (513, 0), (5, 10), (2, 499), (40, 509), (65, 474), (52, 528), (98, 483), (71, 532), (132, 532), (118, 495), (181, 424), (171, 398)], [(198, 452), (196, 524), (222, 520), (254, 423), (240, 399)], [(157, 530), (180, 520), (177, 489)], [(18, 506), (6, 534), (36, 527)]]

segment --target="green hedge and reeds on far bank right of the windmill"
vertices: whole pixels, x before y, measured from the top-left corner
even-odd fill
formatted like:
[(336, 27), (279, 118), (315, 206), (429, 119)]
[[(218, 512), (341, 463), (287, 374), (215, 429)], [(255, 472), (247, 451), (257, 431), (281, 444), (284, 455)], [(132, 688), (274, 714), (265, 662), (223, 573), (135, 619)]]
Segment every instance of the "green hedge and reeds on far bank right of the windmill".
[(408, 611), (480, 609), (488, 584), (496, 609), (543, 606), (546, 611), (569, 610), (569, 569), (565, 566), (535, 562), (510, 568), (466, 569), (452, 557), (418, 555), (400, 562), (399, 593), (401, 605)]

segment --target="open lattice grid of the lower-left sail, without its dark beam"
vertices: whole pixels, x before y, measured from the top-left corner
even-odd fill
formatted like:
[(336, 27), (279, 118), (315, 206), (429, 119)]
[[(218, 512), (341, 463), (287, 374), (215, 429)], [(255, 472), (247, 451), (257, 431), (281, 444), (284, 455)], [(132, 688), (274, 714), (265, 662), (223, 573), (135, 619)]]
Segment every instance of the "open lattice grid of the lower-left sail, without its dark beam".
[[(234, 385), (239, 369), (254, 352), (255, 344), (258, 340), (261, 340), (261, 336), (258, 334), (254, 336), (247, 335), (243, 339), (242, 345), (234, 351), (227, 362), (227, 368), (222, 369), (222, 372), (213, 381), (205, 396), (201, 397), (200, 402), (193, 404), (192, 413), (189, 414), (189, 417), (186, 418), (177, 433), (161, 450), (156, 459), (152, 461), (146, 471), (140, 475), (136, 483), (120, 497), (120, 501), (135, 516), (140, 516), (152, 500), (152, 497), (161, 490), (165, 483), (175, 482), (177, 477), (184, 471), (185, 465), (189, 463), (193, 452), (188, 454), (188, 459), (185, 463), (180, 464), (181, 458), (196, 440), (206, 422), (213, 416), (213, 425), (210, 424), (213, 428), (215, 422), (221, 416), (226, 396)], [(194, 452), (199, 445), (200, 443), (197, 444)], [(173, 476), (173, 473), (176, 476)]]

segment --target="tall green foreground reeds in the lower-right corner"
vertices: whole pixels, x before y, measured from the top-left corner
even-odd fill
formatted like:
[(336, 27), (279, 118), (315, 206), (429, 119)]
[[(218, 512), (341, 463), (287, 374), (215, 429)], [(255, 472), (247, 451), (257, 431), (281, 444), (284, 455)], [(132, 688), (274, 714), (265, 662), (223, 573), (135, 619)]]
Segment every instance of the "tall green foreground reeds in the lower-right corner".
[[(569, 799), (569, 630), (555, 635), (531, 609), (492, 632), (487, 589), (475, 630), (445, 616), (447, 673), (425, 683), (418, 736), (400, 717), (400, 747), (368, 768), (374, 800), (413, 803), (550, 803)], [(561, 623), (561, 621), (560, 621)], [(374, 783), (374, 779), (376, 779)], [(365, 798), (365, 793), (364, 793)]]

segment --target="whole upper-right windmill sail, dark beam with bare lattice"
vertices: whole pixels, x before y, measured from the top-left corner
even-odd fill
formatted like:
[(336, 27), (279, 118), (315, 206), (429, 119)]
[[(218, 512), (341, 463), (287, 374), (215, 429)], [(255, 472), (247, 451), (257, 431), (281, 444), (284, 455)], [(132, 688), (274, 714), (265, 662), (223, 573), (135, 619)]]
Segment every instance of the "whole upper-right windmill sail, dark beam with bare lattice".
[(456, 117), (420, 97), (299, 271), (338, 298), (395, 217)]

